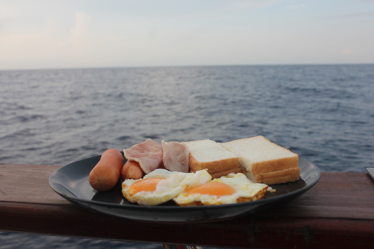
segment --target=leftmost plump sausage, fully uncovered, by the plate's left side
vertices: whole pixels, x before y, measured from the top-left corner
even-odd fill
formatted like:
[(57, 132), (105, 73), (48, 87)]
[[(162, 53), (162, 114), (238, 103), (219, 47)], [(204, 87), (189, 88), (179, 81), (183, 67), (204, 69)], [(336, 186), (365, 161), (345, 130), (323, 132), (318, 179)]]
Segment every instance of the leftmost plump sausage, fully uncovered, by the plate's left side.
[(93, 189), (98, 191), (112, 189), (119, 180), (122, 165), (123, 157), (119, 150), (105, 150), (100, 161), (89, 174), (88, 179)]

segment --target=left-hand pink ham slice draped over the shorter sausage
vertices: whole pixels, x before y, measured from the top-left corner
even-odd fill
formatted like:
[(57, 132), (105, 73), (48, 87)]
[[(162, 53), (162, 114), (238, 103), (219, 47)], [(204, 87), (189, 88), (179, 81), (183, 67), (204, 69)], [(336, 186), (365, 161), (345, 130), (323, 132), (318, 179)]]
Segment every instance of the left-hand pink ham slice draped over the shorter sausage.
[(162, 145), (151, 138), (143, 143), (135, 144), (129, 149), (124, 149), (123, 154), (127, 160), (137, 161), (145, 174), (163, 168)]

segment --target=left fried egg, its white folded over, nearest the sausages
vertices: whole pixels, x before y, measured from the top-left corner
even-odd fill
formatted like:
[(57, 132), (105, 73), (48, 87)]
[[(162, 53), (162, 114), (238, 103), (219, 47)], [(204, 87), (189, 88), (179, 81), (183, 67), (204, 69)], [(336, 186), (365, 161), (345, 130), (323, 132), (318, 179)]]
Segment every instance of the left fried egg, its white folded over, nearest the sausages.
[(142, 179), (123, 181), (122, 194), (129, 202), (159, 205), (171, 200), (185, 189), (207, 183), (211, 179), (211, 175), (205, 169), (195, 173), (156, 169)]

